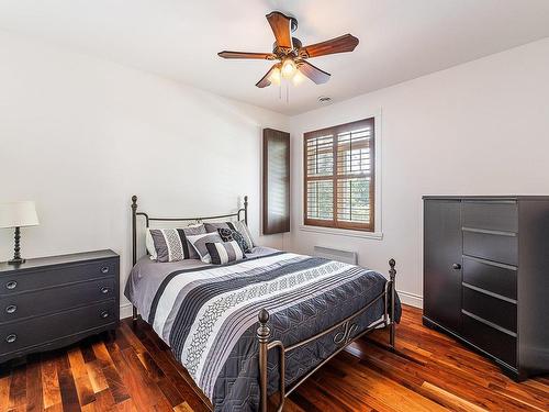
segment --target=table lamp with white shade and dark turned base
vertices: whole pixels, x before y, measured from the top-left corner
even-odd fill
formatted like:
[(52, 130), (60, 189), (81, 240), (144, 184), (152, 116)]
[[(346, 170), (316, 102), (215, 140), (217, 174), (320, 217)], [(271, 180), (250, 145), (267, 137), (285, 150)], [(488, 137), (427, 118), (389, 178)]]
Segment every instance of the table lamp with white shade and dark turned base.
[(21, 238), (21, 227), (38, 225), (36, 207), (34, 202), (7, 202), (0, 203), (0, 229), (15, 229), (15, 247), (13, 249), (13, 259), (8, 260), (10, 265), (21, 265), (25, 259), (21, 258), (21, 248), (19, 241)]

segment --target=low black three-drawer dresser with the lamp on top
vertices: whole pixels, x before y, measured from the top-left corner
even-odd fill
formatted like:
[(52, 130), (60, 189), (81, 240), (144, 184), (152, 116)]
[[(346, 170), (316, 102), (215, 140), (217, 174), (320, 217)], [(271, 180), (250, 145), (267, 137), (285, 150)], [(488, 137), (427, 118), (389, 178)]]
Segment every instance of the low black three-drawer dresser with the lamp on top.
[(0, 363), (114, 330), (119, 260), (98, 250), (0, 264)]

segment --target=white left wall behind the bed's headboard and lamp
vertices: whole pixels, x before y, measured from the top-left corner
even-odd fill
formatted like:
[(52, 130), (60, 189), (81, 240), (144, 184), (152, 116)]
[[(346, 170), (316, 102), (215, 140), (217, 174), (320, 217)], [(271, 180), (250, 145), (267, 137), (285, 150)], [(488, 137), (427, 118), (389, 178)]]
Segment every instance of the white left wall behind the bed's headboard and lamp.
[[(112, 248), (122, 289), (131, 196), (159, 215), (197, 215), (234, 211), (248, 194), (257, 236), (261, 129), (287, 124), (267, 110), (0, 33), (0, 201), (35, 200), (41, 220), (22, 230), (22, 254)], [(12, 242), (1, 230), (0, 260)], [(282, 236), (259, 242), (281, 247)]]

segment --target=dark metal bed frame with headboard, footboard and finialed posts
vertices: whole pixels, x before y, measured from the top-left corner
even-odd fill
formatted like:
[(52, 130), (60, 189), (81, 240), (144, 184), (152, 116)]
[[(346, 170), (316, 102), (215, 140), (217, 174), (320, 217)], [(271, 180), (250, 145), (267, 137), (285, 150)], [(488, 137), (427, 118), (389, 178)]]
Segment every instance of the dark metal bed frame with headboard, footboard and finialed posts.
[[(201, 223), (206, 220), (219, 220), (224, 218), (236, 218), (240, 220), (242, 214), (244, 214), (244, 222), (248, 224), (248, 197), (244, 197), (244, 208), (238, 209), (234, 213), (220, 214), (216, 216), (203, 216), (203, 218), (150, 218), (145, 212), (137, 212), (137, 197), (132, 196), (132, 261), (133, 265), (137, 263), (137, 216), (145, 218), (146, 227), (149, 227), (150, 222), (189, 222), (194, 221), (197, 223)], [(294, 343), (290, 346), (284, 346), (281, 341), (272, 341), (269, 342), (270, 337), (270, 329), (269, 329), (269, 312), (266, 309), (261, 309), (258, 314), (259, 327), (257, 330), (257, 339), (259, 342), (259, 390), (260, 390), (260, 399), (259, 399), (259, 411), (267, 412), (269, 400), (268, 400), (268, 354), (270, 349), (278, 348), (279, 349), (279, 397), (280, 400), (277, 405), (277, 412), (282, 411), (284, 407), (284, 400), (292, 393), (301, 383), (303, 383), (311, 375), (313, 375), (316, 370), (318, 370), (324, 364), (330, 360), (334, 356), (336, 356), (339, 352), (345, 349), (349, 344), (355, 342), (356, 339), (362, 337), (363, 335), (372, 332), (376, 329), (384, 329), (389, 327), (389, 350), (395, 352), (395, 321), (394, 321), (394, 305), (395, 305), (395, 270), (396, 263), (394, 259), (389, 260), (389, 280), (385, 282), (385, 287), (383, 291), (378, 294), (373, 300), (371, 300), (366, 307), (360, 309), (359, 311), (352, 313), (350, 316), (341, 320), (329, 329), (322, 331), (311, 337), (307, 337), (304, 341)], [(379, 300), (383, 300), (383, 318), (372, 325), (370, 325), (365, 331), (360, 332), (358, 335), (352, 336), (352, 334), (358, 330), (358, 325), (354, 323), (354, 321), (365, 313), (370, 307), (372, 307)], [(137, 320), (137, 309), (133, 308), (133, 320)], [(339, 330), (339, 331), (338, 331)], [(310, 342), (317, 339), (324, 335), (338, 331), (333, 336), (333, 342), (336, 345), (340, 345), (336, 352), (334, 352), (326, 359), (321, 361), (316, 367), (310, 370), (305, 376), (299, 379), (295, 383), (293, 383), (290, 388), (285, 388), (285, 354), (292, 352), (303, 345), (309, 344)], [(212, 405), (209, 404), (211, 408)]]

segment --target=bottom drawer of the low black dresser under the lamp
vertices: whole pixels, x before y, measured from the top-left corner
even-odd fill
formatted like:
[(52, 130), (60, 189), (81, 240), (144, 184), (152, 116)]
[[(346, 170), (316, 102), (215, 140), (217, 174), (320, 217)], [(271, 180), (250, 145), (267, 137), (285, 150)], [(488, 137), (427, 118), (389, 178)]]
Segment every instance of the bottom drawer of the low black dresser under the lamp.
[(116, 322), (116, 301), (0, 325), (0, 356)]

